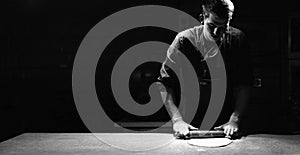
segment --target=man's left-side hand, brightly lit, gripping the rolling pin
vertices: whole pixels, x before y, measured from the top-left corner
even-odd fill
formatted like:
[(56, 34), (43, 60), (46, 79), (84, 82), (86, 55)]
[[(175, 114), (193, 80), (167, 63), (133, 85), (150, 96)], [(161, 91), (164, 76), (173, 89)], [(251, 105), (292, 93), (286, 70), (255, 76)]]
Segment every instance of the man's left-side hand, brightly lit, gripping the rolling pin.
[(197, 128), (184, 122), (183, 120), (178, 120), (173, 123), (173, 130), (176, 137), (186, 137), (190, 130), (197, 130)]

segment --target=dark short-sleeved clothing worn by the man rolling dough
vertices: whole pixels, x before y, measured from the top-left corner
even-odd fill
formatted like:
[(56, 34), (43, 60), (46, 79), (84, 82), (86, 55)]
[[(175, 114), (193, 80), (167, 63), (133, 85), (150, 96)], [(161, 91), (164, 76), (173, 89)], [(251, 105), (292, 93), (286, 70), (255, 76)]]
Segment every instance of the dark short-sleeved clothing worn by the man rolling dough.
[[(160, 71), (160, 79), (164, 85), (174, 89), (178, 88), (175, 86), (178, 82), (174, 82), (176, 78), (172, 77), (175, 74), (172, 74), (171, 70), (178, 69), (177, 73), (187, 70), (186, 66), (190, 64), (182, 63), (183, 55), (193, 65), (201, 90), (198, 110), (191, 123), (197, 127), (201, 125), (209, 104), (211, 84), (214, 80), (218, 80), (218, 77), (211, 77), (211, 67), (208, 67), (208, 64), (214, 67), (224, 64), (226, 69), (225, 102), (215, 126), (229, 120), (235, 104), (234, 88), (252, 84), (252, 69), (244, 33), (230, 27), (224, 39), (220, 43), (215, 43), (207, 37), (203, 30), (203, 25), (201, 25), (180, 32), (169, 47)], [(221, 63), (221, 60), (224, 63)], [(188, 73), (183, 74), (186, 77)], [(187, 89), (189, 88), (184, 88), (181, 93), (184, 94)], [(188, 94), (185, 95), (188, 96)]]

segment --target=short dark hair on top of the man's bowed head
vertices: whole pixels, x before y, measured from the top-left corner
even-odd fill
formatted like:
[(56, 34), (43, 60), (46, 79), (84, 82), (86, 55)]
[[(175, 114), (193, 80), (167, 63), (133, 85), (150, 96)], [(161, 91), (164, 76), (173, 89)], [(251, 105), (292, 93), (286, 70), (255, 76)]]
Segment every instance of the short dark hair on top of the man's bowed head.
[(223, 19), (231, 18), (233, 3), (230, 0), (203, 0), (204, 13), (214, 13)]

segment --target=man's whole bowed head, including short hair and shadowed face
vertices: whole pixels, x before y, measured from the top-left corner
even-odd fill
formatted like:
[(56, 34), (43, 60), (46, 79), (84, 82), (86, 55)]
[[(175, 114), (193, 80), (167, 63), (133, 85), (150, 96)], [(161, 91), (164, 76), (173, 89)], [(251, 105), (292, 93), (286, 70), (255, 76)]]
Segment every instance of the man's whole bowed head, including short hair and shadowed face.
[(234, 5), (230, 0), (203, 0), (205, 30), (215, 41), (219, 40), (229, 26)]

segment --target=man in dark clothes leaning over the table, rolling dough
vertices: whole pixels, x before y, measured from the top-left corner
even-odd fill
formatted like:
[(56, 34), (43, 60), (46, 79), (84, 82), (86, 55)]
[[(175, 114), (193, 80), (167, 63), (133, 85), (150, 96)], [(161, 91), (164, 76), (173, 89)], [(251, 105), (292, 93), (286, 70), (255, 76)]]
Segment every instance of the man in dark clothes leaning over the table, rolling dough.
[[(171, 67), (179, 67), (179, 72), (182, 72), (184, 66), (178, 66), (180, 64), (178, 53), (200, 52), (202, 57), (199, 64), (202, 63), (202, 65), (195, 68), (195, 70), (201, 70), (197, 74), (198, 79), (212, 81), (209, 73), (207, 75), (209, 70), (205, 62), (214, 61), (214, 64), (219, 65), (219, 58), (222, 57), (226, 68), (227, 92), (222, 112), (214, 129), (224, 130), (226, 136), (230, 137), (239, 130), (240, 120), (249, 100), (252, 72), (246, 51), (247, 44), (244, 33), (229, 25), (234, 11), (230, 0), (203, 0), (202, 9), (203, 23), (178, 33), (167, 51), (159, 77), (166, 90), (161, 90), (161, 94), (171, 115), (173, 130), (176, 134), (185, 136), (189, 130), (197, 129), (184, 121), (176, 106), (178, 94), (174, 90), (176, 82), (172, 77), (174, 74), (171, 72)], [(195, 117), (196, 120), (198, 118), (201, 117)]]

